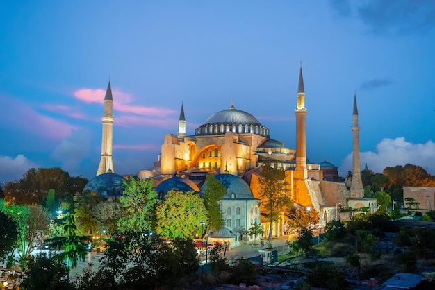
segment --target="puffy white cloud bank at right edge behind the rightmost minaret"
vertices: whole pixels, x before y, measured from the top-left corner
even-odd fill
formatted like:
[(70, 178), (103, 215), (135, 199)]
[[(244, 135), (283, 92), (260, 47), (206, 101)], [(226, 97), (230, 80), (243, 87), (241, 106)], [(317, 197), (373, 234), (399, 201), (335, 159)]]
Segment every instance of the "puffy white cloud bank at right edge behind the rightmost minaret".
[[(435, 175), (435, 144), (412, 144), (404, 137), (385, 138), (377, 144), (376, 152), (361, 152), (361, 169), (367, 163), (368, 169), (382, 173), (386, 167), (404, 166), (407, 163), (423, 167), (429, 174)], [(352, 153), (345, 157), (340, 166), (340, 176), (352, 171)]]

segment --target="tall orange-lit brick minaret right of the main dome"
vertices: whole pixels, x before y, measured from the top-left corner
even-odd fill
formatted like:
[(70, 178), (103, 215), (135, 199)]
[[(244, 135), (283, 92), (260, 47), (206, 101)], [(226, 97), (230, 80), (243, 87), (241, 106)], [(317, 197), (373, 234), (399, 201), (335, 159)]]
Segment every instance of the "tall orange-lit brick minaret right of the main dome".
[(296, 116), (296, 168), (295, 178), (306, 179), (306, 108), (304, 78), (302, 77), (302, 62), (299, 71), (299, 85), (297, 87)]

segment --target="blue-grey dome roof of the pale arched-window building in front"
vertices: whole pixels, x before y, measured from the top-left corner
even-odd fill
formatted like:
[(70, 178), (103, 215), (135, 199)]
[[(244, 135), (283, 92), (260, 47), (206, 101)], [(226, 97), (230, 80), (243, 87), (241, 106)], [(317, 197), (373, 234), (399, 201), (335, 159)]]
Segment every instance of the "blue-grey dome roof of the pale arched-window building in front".
[[(242, 178), (232, 174), (217, 174), (215, 178), (227, 188), (222, 199), (255, 199), (251, 188)], [(202, 191), (201, 193), (204, 194)]]

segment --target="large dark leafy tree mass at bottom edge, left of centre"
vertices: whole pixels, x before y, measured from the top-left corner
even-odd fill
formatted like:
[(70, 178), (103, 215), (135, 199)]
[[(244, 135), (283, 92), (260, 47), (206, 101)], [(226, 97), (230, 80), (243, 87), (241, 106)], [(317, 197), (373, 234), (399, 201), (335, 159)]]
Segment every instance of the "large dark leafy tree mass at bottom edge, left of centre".
[(191, 240), (170, 245), (155, 235), (131, 230), (112, 236), (100, 265), (105, 277), (111, 278), (110, 284), (120, 289), (174, 287), (198, 267)]

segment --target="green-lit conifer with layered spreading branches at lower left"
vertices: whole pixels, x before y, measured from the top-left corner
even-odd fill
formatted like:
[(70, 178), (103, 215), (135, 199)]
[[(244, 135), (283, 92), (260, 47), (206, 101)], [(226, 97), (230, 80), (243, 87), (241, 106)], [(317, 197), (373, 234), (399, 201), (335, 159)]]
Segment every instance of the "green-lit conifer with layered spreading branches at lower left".
[(63, 235), (47, 239), (46, 243), (59, 249), (63, 248), (63, 252), (55, 257), (60, 259), (60, 261), (66, 260), (67, 267), (73, 268), (77, 266), (79, 259), (85, 260), (85, 256), (88, 253), (87, 242), (90, 238), (77, 235), (75, 221), (76, 206), (72, 196), (69, 196), (63, 212), (63, 216), (57, 220), (62, 225)]

